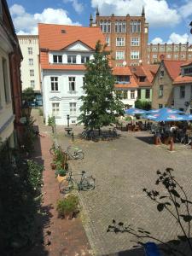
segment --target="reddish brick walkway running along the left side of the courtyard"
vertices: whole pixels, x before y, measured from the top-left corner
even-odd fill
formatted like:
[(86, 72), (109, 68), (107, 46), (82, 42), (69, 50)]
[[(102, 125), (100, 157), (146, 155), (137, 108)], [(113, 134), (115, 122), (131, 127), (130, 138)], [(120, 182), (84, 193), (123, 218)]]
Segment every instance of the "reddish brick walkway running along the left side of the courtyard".
[[(38, 219), (39, 233), (37, 235), (36, 245), (30, 252), (33, 255), (49, 256), (88, 256), (91, 254), (90, 245), (84, 232), (80, 218), (73, 220), (57, 218), (56, 201), (61, 198), (58, 183), (55, 180), (55, 171), (50, 168), (52, 156), (49, 154), (49, 148), (52, 144), (50, 128), (42, 124), (42, 118), (38, 116), (37, 111), (33, 110), (32, 115), (37, 119), (36, 129), (45, 137), (39, 137), (36, 142), (34, 159), (44, 164), (44, 202), (41, 212), (44, 213)], [(43, 230), (42, 230), (43, 229)], [(51, 232), (47, 236), (47, 232)], [(44, 243), (42, 244), (44, 237)], [(49, 244), (50, 243), (50, 244)], [(48, 245), (49, 244), (49, 245)]]

